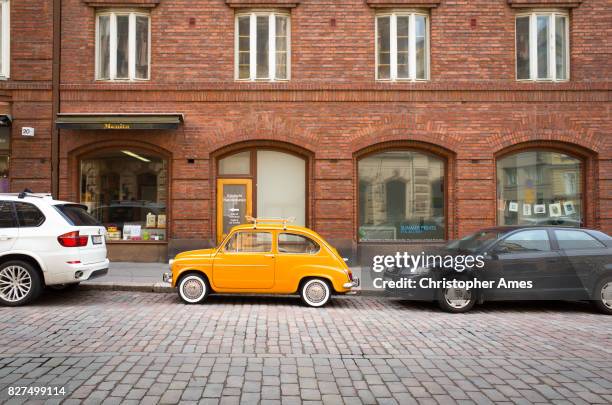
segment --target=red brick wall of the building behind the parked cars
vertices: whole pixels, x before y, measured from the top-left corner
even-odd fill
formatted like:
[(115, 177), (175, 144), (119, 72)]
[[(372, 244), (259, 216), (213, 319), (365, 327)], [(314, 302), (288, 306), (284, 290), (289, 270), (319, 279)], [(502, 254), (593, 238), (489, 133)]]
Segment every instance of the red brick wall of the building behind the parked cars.
[[(119, 84), (94, 80), (94, 9), (65, 0), (61, 111), (182, 112), (185, 124), (177, 131), (136, 133), (62, 130), (61, 196), (78, 197), (80, 151), (141, 142), (171, 156), (171, 236), (211, 239), (211, 156), (238, 142), (286, 142), (312, 156), (310, 225), (350, 242), (356, 235), (354, 157), (381, 142), (428, 143), (451, 156), (447, 220), (454, 238), (495, 223), (496, 156), (539, 141), (586, 152), (587, 223), (612, 232), (609, 2), (585, 0), (571, 11), (567, 83), (515, 81), (516, 12), (506, 0), (442, 1), (431, 11), (431, 81), (390, 84), (374, 80), (373, 9), (363, 0), (303, 1), (291, 10), (291, 81), (244, 84), (233, 80), (235, 11), (223, 0), (162, 0), (151, 11), (151, 80)], [(50, 28), (42, 27), (42, 42), (30, 52), (50, 69)], [(25, 41), (18, 36), (30, 37), (14, 32), (14, 44)], [(15, 72), (15, 78), (30, 74), (35, 73)], [(50, 93), (19, 90), (15, 97), (27, 99), (15, 130), (23, 120), (37, 127), (37, 137), (14, 137), (13, 188), (48, 190), (50, 161), (41, 159), (50, 155)], [(17, 103), (13, 108), (19, 110)]]

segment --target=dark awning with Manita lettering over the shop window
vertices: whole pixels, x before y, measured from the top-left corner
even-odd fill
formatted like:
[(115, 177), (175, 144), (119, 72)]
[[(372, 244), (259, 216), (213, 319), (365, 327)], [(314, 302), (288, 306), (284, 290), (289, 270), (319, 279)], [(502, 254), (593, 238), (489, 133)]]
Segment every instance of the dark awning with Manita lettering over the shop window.
[(55, 125), (61, 129), (177, 129), (182, 122), (181, 113), (60, 113), (57, 114)]

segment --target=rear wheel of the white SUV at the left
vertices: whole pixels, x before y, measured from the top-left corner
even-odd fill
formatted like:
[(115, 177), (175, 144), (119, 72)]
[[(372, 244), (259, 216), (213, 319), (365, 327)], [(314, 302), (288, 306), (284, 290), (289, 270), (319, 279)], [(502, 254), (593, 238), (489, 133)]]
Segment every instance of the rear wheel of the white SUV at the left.
[(25, 305), (36, 299), (41, 289), (40, 276), (30, 263), (14, 260), (0, 265), (0, 303)]

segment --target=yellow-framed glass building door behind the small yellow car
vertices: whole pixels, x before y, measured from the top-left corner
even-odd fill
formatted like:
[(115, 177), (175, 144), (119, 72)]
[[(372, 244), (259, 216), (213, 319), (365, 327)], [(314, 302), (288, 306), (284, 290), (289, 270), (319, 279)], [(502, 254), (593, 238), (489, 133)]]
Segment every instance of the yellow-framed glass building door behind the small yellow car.
[(246, 223), (253, 215), (251, 179), (217, 180), (217, 243), (221, 242), (233, 226)]

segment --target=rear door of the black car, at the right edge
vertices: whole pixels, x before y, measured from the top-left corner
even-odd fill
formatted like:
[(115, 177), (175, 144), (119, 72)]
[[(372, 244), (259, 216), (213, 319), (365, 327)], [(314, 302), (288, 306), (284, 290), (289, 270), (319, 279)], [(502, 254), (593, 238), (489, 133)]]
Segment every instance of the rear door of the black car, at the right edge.
[(590, 299), (606, 265), (612, 265), (612, 249), (582, 230), (555, 229), (553, 233), (575, 274), (572, 284), (567, 286), (568, 294), (572, 299)]

